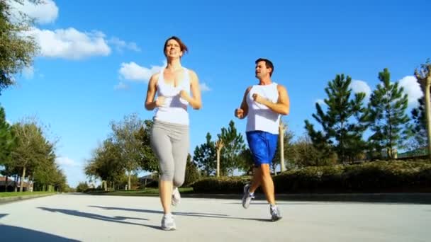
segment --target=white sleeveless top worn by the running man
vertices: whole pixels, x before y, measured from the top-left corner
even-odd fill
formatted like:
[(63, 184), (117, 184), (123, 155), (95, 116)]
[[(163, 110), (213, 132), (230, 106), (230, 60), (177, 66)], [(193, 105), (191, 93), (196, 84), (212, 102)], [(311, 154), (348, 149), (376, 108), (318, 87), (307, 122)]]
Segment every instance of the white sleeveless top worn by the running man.
[(266, 105), (256, 103), (253, 94), (257, 93), (263, 98), (267, 98), (272, 103), (279, 100), (278, 84), (273, 82), (269, 85), (254, 85), (248, 92), (246, 101), (248, 105), (246, 132), (260, 130), (271, 134), (279, 134), (280, 114), (275, 113)]

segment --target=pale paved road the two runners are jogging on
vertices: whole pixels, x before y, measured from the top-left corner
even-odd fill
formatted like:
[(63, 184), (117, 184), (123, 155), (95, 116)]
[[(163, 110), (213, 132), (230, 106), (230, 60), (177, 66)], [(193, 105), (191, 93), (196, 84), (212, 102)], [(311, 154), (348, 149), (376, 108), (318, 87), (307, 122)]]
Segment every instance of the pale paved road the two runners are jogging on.
[(177, 231), (159, 229), (158, 197), (54, 195), (0, 204), (1, 241), (430, 241), (431, 205), (183, 198)]

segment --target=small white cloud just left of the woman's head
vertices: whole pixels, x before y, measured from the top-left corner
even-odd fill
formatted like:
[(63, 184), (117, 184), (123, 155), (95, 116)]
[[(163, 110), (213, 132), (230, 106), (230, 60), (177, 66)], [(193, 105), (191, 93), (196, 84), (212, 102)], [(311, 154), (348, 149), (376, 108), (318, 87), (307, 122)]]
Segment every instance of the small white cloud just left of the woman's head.
[(161, 71), (166, 66), (164, 62), (163, 66), (151, 66), (150, 68), (141, 67), (135, 62), (121, 63), (121, 68), (118, 71), (121, 79), (132, 80), (132, 81), (148, 81), (152, 74)]

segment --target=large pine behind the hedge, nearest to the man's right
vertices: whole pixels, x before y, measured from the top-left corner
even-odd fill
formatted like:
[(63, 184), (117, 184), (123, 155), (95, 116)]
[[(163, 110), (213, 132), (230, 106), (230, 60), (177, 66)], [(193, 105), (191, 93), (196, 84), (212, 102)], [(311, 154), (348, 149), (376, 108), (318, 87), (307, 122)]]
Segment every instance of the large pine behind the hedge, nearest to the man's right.
[(313, 125), (308, 120), (305, 121), (308, 135), (320, 151), (321, 159), (328, 159), (332, 151), (335, 151), (340, 161), (353, 161), (365, 147), (362, 140), (366, 130), (364, 121), (367, 112), (363, 105), (365, 93), (355, 93), (351, 98), (350, 83), (350, 76), (335, 76), (325, 88), (328, 95), (325, 99), (325, 104), (328, 105), (326, 113), (319, 103), (315, 104), (317, 113), (313, 117), (322, 125), (323, 131), (315, 131)]

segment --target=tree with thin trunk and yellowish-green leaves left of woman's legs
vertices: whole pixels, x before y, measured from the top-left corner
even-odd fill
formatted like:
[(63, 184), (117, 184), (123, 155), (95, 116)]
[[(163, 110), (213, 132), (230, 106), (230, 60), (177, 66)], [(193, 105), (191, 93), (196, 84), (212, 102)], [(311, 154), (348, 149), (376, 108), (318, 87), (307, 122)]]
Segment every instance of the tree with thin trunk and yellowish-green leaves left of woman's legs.
[(141, 143), (137, 134), (143, 125), (136, 114), (125, 116), (123, 122), (111, 123), (112, 139), (120, 147), (121, 160), (129, 178), (128, 189), (131, 186), (131, 176), (140, 168)]

